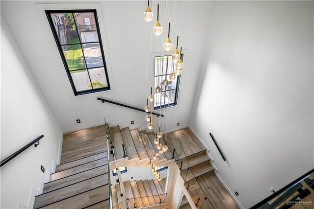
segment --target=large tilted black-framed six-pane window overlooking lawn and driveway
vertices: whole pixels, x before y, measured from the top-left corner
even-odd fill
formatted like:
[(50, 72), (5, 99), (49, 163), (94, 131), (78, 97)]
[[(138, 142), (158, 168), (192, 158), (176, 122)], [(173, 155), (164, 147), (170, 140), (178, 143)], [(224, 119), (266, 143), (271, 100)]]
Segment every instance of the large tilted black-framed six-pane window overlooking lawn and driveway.
[(110, 90), (96, 10), (46, 10), (75, 95)]

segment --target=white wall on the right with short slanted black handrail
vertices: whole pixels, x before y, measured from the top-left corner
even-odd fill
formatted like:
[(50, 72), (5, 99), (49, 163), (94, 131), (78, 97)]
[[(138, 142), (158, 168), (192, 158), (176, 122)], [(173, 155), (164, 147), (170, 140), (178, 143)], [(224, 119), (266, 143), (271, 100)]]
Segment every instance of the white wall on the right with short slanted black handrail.
[(313, 38), (313, 1), (215, 2), (189, 123), (244, 208), (314, 166)]

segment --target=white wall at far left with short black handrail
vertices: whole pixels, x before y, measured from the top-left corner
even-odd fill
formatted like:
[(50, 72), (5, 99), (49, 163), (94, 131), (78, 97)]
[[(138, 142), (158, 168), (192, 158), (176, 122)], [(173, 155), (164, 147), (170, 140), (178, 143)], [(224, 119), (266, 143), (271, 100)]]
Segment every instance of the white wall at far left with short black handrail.
[(1, 167), (1, 208), (32, 208), (59, 162), (62, 141), (61, 129), (1, 17), (1, 160), (42, 134), (39, 146)]

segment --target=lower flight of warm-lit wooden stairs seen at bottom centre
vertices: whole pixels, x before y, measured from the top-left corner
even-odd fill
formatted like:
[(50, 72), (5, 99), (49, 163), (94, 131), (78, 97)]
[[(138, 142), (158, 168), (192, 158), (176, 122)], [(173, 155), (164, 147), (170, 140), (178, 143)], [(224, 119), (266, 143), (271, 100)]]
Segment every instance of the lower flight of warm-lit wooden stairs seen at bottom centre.
[[(165, 203), (166, 178), (158, 180), (139, 180), (123, 182), (131, 209), (151, 208)], [(122, 209), (123, 204), (119, 184), (111, 186), (113, 209)]]

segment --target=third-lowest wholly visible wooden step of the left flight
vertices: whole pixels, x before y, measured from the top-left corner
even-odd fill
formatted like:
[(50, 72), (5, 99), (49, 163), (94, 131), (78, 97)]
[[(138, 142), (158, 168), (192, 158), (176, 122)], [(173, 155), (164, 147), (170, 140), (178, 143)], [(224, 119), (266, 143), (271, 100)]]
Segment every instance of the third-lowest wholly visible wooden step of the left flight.
[(55, 173), (52, 173), (50, 175), (50, 181), (61, 179), (61, 178), (64, 178), (64, 177), (67, 177), (67, 176), (70, 176), (70, 175), (73, 175), (73, 174), (77, 174), (77, 173), (80, 173), (82, 171), (86, 171), (86, 170), (89, 170), (89, 169), (92, 169), (92, 168), (95, 168), (95, 167), (99, 167), (99, 166), (102, 166), (102, 165), (105, 165), (105, 164), (108, 164), (108, 158), (103, 158), (103, 159), (100, 159), (100, 160), (97, 160), (97, 161), (93, 161), (93, 162), (90, 162), (90, 163), (78, 165), (78, 166), (73, 167), (73, 168), (69, 168), (69, 169), (66, 169), (66, 170), (55, 172)]

